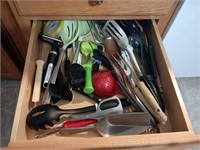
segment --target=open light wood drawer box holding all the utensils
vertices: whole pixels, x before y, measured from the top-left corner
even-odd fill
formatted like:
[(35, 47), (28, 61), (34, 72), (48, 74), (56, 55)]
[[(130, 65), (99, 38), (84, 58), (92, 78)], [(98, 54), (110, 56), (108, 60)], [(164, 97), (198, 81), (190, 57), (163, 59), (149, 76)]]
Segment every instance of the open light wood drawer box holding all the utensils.
[[(163, 86), (166, 114), (168, 116), (167, 123), (165, 125), (159, 125), (161, 133), (100, 137), (93, 131), (66, 137), (54, 134), (45, 138), (35, 139), (35, 131), (27, 128), (25, 123), (26, 115), (33, 106), (31, 97), (36, 69), (35, 61), (38, 59), (40, 50), (37, 36), (41, 31), (41, 22), (34, 21), (9, 146), (22, 147), (23, 149), (31, 147), (94, 149), (199, 142), (200, 138), (195, 135), (192, 129), (175, 76), (164, 50), (156, 22), (155, 20), (146, 20), (146, 22), (148, 23), (147, 35), (150, 43), (152, 43), (154, 47), (156, 65)], [(46, 53), (48, 52), (46, 51)], [(77, 97), (75, 99), (77, 99)], [(90, 105), (90, 103), (80, 101), (78, 104), (75, 104), (75, 107), (79, 107), (79, 105)], [(67, 107), (71, 106), (73, 107), (74, 105), (69, 104)]]

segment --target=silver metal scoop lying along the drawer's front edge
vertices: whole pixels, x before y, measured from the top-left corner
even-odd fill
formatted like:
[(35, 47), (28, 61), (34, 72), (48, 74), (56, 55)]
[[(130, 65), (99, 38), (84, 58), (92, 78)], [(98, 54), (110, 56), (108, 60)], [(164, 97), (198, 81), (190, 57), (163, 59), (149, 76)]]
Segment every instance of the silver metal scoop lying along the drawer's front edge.
[(80, 128), (60, 128), (61, 135), (69, 135), (90, 130), (97, 130), (103, 137), (133, 135), (146, 132), (152, 126), (148, 113), (132, 112), (109, 114), (97, 123)]

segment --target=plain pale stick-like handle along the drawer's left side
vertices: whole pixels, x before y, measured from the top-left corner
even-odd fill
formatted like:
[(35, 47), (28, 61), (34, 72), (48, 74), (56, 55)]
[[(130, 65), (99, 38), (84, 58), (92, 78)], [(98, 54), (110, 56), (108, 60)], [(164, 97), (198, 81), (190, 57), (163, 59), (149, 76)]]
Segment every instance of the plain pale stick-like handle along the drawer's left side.
[(44, 66), (43, 60), (37, 60), (36, 65), (36, 74), (35, 74), (35, 83), (33, 88), (33, 96), (32, 96), (32, 102), (39, 102), (40, 101), (40, 90), (41, 90), (41, 84), (42, 84), (42, 72), (43, 72), (43, 66)]

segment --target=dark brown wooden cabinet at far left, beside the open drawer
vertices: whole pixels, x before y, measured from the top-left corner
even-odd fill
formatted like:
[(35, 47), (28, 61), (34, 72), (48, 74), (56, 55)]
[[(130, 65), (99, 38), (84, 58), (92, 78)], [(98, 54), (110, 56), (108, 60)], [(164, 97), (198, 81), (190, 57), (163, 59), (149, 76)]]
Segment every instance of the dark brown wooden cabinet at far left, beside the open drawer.
[(29, 22), (14, 13), (7, 1), (1, 1), (2, 78), (22, 77), (31, 29)]

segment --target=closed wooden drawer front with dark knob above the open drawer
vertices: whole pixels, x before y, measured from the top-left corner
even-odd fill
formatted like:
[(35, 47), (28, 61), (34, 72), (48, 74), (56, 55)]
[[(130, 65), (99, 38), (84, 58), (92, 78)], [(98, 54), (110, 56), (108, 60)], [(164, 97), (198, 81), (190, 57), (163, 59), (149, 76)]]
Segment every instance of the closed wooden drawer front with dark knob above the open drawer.
[[(159, 19), (166, 15), (177, 0), (102, 0), (101, 5), (91, 6), (94, 0), (15, 1), (19, 14), (31, 20), (41, 19), (122, 19), (124, 16), (137, 19)], [(98, 1), (98, 0), (96, 0)], [(81, 8), (81, 9), (80, 9)]]

